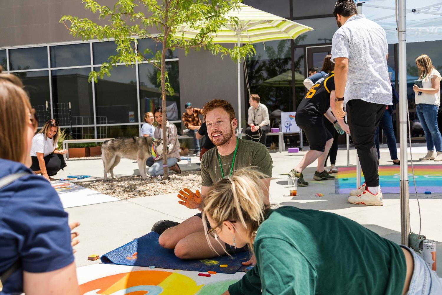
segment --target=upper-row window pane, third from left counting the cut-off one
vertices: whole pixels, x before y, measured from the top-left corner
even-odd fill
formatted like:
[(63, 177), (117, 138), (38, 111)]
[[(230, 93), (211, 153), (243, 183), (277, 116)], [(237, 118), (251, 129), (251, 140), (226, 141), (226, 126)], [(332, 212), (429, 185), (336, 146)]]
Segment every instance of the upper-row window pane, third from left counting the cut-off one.
[(89, 43), (51, 46), (51, 67), (72, 67), (91, 64)]

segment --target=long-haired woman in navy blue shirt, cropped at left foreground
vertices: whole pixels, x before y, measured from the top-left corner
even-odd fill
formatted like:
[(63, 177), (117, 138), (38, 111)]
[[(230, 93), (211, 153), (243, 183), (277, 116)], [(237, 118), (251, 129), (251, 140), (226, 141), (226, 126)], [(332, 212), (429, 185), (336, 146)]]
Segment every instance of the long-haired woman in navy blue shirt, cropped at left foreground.
[(8, 114), (0, 116), (0, 179), (23, 174), (0, 187), (0, 294), (79, 295), (72, 255), (78, 241), (71, 244), (79, 223), (69, 226), (57, 192), (28, 168), (38, 122), (21, 81), (1, 69), (0, 113)]

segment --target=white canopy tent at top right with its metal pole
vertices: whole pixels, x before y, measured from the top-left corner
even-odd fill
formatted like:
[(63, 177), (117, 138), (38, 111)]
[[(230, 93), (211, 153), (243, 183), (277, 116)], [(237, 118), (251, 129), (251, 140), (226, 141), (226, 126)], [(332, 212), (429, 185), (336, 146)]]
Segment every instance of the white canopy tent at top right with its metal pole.
[[(384, 28), (389, 44), (399, 43), (401, 243), (409, 245), (406, 43), (442, 40), (442, 2), (440, 0), (354, 0), (354, 2), (358, 6), (358, 13), (363, 13), (368, 19)], [(359, 165), (357, 171), (360, 176)], [(359, 185), (359, 177), (357, 181)]]

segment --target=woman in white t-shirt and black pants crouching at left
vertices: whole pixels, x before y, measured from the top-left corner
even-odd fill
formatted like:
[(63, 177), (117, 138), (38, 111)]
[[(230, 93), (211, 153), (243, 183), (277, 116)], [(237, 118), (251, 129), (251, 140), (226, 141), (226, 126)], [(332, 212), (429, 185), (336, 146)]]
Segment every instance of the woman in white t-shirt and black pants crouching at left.
[(32, 138), (32, 148), (30, 156), (32, 158), (32, 166), (30, 169), (35, 174), (42, 174), (47, 180), (53, 180), (50, 176), (57, 174), (60, 169), (66, 167), (63, 157), (67, 150), (58, 150), (58, 135), (60, 127), (57, 121), (50, 119), (43, 126), (42, 130)]

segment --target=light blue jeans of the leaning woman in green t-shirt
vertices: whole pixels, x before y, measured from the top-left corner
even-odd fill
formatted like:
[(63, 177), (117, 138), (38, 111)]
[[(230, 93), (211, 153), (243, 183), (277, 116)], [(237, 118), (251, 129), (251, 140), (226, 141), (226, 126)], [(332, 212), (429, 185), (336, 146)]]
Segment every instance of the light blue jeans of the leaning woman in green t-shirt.
[(415, 251), (403, 245), (401, 247), (412, 253), (414, 262), (412, 280), (407, 295), (441, 295), (442, 279), (428, 267)]

